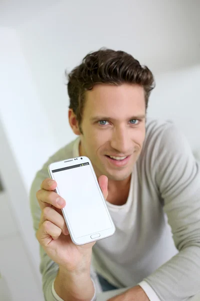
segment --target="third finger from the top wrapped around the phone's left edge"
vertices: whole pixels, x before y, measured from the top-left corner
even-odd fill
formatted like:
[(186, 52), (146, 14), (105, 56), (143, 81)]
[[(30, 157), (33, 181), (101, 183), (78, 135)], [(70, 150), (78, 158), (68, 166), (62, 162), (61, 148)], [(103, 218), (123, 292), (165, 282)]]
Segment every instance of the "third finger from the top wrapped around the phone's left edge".
[(66, 223), (61, 214), (55, 211), (52, 207), (45, 207), (41, 212), (40, 224), (43, 224), (44, 221), (49, 221), (53, 223), (55, 226), (62, 230), (64, 235), (68, 235), (68, 229), (66, 227)]

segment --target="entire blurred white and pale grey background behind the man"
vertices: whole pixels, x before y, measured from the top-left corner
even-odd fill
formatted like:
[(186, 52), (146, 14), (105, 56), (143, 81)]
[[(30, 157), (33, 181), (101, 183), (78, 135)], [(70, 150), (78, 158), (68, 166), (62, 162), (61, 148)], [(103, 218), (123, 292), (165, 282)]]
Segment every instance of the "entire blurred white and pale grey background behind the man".
[(123, 50), (155, 76), (148, 116), (175, 121), (200, 154), (199, 0), (0, 1), (0, 300), (42, 301), (28, 194), (74, 138), (64, 70)]

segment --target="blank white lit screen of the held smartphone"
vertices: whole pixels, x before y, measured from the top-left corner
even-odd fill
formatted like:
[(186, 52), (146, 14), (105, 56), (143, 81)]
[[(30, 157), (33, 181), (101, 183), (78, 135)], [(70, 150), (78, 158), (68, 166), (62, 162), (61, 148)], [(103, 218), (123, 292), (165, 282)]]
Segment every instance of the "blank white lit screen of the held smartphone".
[(112, 227), (89, 162), (52, 170), (75, 238)]

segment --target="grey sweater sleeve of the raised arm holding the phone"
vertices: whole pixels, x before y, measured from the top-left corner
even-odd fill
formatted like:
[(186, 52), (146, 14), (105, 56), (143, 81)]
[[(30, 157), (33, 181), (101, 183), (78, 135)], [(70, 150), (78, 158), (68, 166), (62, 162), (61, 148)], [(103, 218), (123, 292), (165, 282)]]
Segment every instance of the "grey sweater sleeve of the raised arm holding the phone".
[[(42, 181), (49, 177), (47, 172), (47, 166), (48, 164), (44, 165), (43, 169), (36, 174), (36, 177), (30, 189), (30, 209), (31, 209), (33, 227), (35, 232), (38, 229), (40, 214), (41, 214), (41, 210), (36, 199), (36, 192), (37, 190), (40, 189), (40, 185)], [(40, 272), (42, 275), (42, 289), (43, 289), (44, 298), (46, 301), (55, 301), (55, 297), (52, 293), (52, 284), (58, 272), (58, 265), (48, 257), (48, 255), (44, 252), (41, 246), (39, 246), (39, 251), (40, 251)], [(96, 293), (100, 292), (101, 291), (100, 284), (98, 282), (98, 278), (92, 266), (90, 268), (90, 276), (91, 276), (91, 280), (94, 283), (95, 292)]]

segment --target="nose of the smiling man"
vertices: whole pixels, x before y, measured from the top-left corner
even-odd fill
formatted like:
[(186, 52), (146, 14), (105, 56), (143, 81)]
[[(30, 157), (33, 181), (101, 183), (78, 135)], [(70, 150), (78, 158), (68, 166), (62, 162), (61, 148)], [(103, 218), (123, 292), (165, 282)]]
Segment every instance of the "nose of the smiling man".
[(110, 145), (118, 154), (129, 155), (131, 144), (132, 142), (127, 128), (120, 126), (113, 129)]

